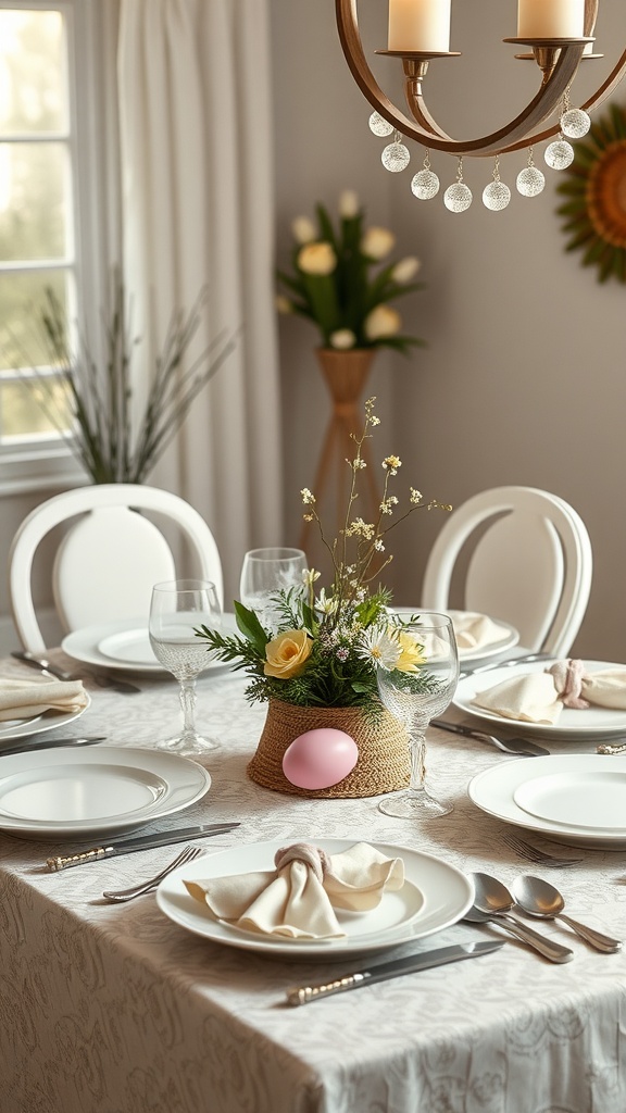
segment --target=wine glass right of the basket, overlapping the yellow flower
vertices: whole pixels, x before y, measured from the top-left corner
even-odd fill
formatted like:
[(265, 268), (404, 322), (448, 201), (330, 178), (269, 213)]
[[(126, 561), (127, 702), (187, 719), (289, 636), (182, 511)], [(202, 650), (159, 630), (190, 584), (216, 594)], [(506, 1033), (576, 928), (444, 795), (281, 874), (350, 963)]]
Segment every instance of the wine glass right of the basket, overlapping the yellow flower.
[[(446, 710), (459, 680), (452, 620), (448, 614), (422, 611), (398, 630), (401, 657), (395, 668), (379, 664), (376, 681), (385, 708), (407, 727), (411, 782), (408, 789), (381, 800), (379, 809), (388, 816), (446, 816), (452, 805), (438, 800), (427, 786), (426, 729)], [(414, 660), (415, 647), (420, 647), (419, 663), (414, 671), (405, 671), (402, 666)]]

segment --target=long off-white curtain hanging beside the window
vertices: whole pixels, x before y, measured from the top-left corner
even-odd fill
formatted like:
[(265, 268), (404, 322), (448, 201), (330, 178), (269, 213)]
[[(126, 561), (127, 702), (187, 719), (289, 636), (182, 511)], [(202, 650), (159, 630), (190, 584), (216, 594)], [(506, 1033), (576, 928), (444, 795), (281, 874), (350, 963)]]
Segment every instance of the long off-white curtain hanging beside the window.
[(150, 476), (207, 520), (226, 600), (244, 552), (282, 543), (267, 3), (120, 2), (124, 268), (153, 344), (143, 373), (203, 286), (204, 342), (241, 328)]

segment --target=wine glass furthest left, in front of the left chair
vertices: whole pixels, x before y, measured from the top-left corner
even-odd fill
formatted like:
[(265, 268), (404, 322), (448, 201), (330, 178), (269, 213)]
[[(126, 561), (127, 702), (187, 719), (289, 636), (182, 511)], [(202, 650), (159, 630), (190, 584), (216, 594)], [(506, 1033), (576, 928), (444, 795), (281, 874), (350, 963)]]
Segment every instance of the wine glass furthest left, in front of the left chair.
[(202, 738), (194, 721), (196, 678), (211, 663), (206, 642), (194, 632), (198, 627), (215, 629), (222, 623), (222, 607), (215, 584), (208, 580), (170, 580), (153, 588), (150, 646), (157, 660), (180, 684), (183, 730), (157, 747), (176, 754), (206, 754), (219, 743)]

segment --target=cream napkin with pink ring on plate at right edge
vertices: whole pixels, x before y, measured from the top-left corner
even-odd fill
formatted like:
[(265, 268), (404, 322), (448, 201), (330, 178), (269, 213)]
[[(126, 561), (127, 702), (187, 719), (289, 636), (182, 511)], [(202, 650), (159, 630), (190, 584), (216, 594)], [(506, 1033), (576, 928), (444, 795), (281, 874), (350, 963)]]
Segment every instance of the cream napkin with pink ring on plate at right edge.
[(550, 726), (564, 707), (583, 710), (593, 703), (626, 711), (626, 666), (585, 672), (583, 661), (556, 661), (545, 672), (502, 680), (478, 692), (471, 702), (505, 719)]

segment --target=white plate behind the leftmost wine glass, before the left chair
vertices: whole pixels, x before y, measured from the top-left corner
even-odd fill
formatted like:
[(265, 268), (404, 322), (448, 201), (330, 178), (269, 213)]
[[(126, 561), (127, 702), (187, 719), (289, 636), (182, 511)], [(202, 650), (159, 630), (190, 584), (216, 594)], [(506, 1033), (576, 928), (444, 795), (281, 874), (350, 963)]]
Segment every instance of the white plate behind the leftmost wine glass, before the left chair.
[[(227, 634), (237, 632), (234, 614), (223, 614), (222, 629)], [(153, 653), (147, 622), (141, 618), (99, 622), (81, 630), (72, 630), (63, 638), (61, 649), (84, 664), (99, 664), (100, 668), (120, 669), (124, 672), (167, 674), (167, 669), (164, 669)], [(229, 666), (224, 661), (209, 660), (206, 671), (227, 668)]]

